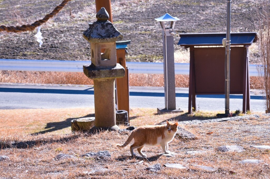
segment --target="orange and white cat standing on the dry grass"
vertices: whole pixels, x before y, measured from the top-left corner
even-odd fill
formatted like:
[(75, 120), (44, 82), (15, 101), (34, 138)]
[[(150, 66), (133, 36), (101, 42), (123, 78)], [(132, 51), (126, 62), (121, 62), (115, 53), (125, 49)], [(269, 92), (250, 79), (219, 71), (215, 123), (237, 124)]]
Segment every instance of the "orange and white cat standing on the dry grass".
[(143, 157), (146, 157), (144, 153), (141, 152), (141, 149), (144, 146), (158, 146), (160, 145), (164, 153), (170, 153), (168, 150), (168, 143), (173, 140), (177, 132), (178, 123), (168, 122), (167, 125), (155, 125), (155, 126), (140, 126), (137, 129), (134, 129), (127, 141), (123, 144), (117, 144), (117, 147), (123, 148), (134, 139), (134, 143), (130, 146), (131, 156), (135, 156), (133, 150), (137, 149), (139, 154)]

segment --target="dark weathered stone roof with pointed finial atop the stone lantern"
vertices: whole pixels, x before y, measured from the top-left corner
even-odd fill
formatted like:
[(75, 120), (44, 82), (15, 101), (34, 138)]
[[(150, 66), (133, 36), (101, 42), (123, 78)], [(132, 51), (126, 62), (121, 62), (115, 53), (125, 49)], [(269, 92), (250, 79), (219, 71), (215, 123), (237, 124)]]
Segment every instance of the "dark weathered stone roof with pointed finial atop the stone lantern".
[(113, 24), (108, 20), (109, 14), (102, 7), (96, 15), (97, 21), (92, 24), (85, 32), (83, 37), (90, 43), (116, 42), (123, 39)]

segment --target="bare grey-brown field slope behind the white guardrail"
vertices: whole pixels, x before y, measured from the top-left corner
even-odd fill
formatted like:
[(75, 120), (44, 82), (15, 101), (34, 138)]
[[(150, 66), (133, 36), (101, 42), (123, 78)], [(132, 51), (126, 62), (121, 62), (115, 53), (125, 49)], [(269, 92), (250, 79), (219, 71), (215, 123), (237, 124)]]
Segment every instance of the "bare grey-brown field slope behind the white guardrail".
[[(0, 1), (0, 25), (31, 24), (42, 19), (61, 3), (61, 0)], [(256, 31), (255, 0), (231, 3), (231, 32)], [(160, 24), (154, 20), (165, 13), (178, 17), (174, 37), (175, 50), (179, 33), (226, 32), (227, 1), (220, 0), (112, 0), (113, 23), (131, 40), (127, 61), (162, 61)], [(0, 32), (0, 58), (89, 60), (89, 43), (82, 37), (88, 23), (94, 22), (94, 0), (70, 1), (53, 19), (41, 26), (43, 45), (36, 42), (33, 32)], [(251, 63), (258, 63), (257, 51), (250, 55)]]

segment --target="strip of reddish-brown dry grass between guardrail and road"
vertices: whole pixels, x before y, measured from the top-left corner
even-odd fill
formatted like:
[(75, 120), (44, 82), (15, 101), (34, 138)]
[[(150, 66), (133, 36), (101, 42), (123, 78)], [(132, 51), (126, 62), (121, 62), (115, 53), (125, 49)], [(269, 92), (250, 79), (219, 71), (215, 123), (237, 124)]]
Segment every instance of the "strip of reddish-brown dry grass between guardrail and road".
[[(93, 80), (80, 72), (0, 71), (3, 83), (81, 84), (93, 85)], [(263, 89), (261, 77), (250, 77), (251, 89)], [(188, 87), (188, 75), (175, 75), (176, 87)], [(129, 74), (129, 86), (164, 86), (162, 74)]]

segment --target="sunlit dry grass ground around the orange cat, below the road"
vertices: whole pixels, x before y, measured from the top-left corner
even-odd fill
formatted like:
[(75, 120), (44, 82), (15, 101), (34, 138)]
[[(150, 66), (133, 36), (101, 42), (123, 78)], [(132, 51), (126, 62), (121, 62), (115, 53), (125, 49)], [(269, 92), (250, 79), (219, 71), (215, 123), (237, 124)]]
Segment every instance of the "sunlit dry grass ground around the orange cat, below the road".
[[(1, 144), (12, 141), (35, 141), (34, 147), (25, 149), (0, 149), (0, 155), (10, 159), (0, 161), (0, 178), (270, 178), (269, 150), (251, 148), (250, 145), (270, 145), (269, 117), (247, 118), (237, 121), (181, 124), (181, 127), (198, 137), (197, 140), (174, 139), (169, 144), (175, 157), (165, 157), (161, 147), (144, 147), (147, 158), (130, 157), (129, 146), (119, 149), (116, 143), (124, 143), (129, 133), (102, 132), (97, 135), (70, 132), (70, 120), (92, 115), (93, 109), (19, 109), (0, 110)], [(156, 115), (156, 109), (132, 109), (131, 125), (157, 124), (167, 119), (178, 121), (214, 119), (216, 113), (196, 112), (194, 115)], [(180, 122), (181, 123), (181, 122)], [(6, 126), (5, 128), (3, 126)], [(120, 126), (124, 128), (124, 126)], [(11, 132), (16, 131), (16, 132)], [(52, 129), (52, 130), (50, 130)], [(46, 131), (46, 132), (42, 132)], [(29, 135), (41, 132), (39, 135)], [(212, 133), (211, 133), (212, 132)], [(209, 134), (210, 133), (210, 134)], [(245, 151), (219, 152), (216, 147), (239, 145)], [(4, 146), (4, 145), (2, 145)], [(108, 160), (81, 157), (88, 152), (107, 150)], [(203, 150), (202, 154), (186, 154)], [(69, 154), (74, 159), (53, 160), (57, 154)], [(240, 164), (244, 159), (264, 160), (259, 164)], [(143, 161), (140, 164), (136, 164)], [(161, 164), (161, 170), (150, 172), (146, 167)], [(187, 169), (166, 168), (166, 163), (179, 163)], [(217, 169), (214, 172), (195, 168), (193, 164)], [(87, 174), (93, 169), (106, 168), (105, 172)], [(129, 168), (129, 170), (127, 170)]]

